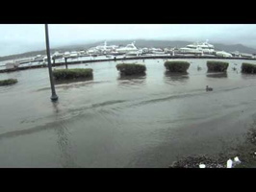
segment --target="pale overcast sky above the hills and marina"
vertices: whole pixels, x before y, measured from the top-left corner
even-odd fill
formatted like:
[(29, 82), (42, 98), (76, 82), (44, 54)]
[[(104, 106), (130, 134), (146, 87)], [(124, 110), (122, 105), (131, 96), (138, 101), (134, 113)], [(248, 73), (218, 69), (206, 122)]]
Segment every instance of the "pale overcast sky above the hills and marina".
[[(256, 48), (254, 24), (49, 24), (51, 48), (111, 39), (219, 42)], [(0, 24), (0, 56), (45, 49), (43, 24)]]

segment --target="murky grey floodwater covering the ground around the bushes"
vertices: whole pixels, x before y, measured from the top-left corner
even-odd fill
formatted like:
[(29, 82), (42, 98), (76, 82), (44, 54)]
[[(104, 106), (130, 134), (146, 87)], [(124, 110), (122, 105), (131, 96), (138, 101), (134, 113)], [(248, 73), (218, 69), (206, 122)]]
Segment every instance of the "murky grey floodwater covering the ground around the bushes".
[(256, 117), (256, 76), (241, 74), (243, 60), (225, 60), (226, 74), (189, 61), (189, 74), (174, 75), (165, 60), (126, 60), (147, 68), (129, 78), (122, 61), (72, 64), (93, 79), (56, 84), (57, 103), (47, 68), (0, 74), (18, 80), (0, 86), (0, 167), (167, 167), (236, 145)]

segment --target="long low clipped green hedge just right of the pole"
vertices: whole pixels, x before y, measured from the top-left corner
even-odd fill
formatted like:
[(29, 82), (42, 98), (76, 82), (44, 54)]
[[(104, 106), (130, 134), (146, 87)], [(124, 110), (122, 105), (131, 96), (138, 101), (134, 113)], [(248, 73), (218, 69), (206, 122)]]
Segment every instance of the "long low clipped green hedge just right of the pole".
[(74, 80), (92, 77), (92, 69), (55, 69), (53, 70), (55, 80)]

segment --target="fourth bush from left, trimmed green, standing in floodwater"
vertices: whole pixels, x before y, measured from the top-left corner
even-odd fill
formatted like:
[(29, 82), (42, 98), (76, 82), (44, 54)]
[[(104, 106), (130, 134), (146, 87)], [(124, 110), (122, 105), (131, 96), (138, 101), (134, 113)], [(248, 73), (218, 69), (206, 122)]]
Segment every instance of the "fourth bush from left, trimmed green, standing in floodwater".
[(166, 61), (166, 70), (174, 73), (186, 73), (191, 63), (183, 60), (171, 60)]

